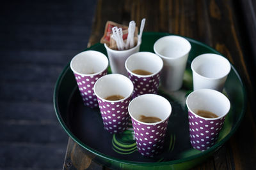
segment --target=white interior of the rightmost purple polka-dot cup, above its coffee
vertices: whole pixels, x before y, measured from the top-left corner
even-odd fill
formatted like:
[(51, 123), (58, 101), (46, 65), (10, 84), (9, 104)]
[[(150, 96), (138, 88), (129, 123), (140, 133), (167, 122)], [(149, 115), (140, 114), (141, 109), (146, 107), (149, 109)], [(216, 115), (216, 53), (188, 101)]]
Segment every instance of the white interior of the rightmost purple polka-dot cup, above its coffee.
[(230, 110), (228, 98), (221, 92), (211, 89), (200, 89), (191, 92), (186, 100), (186, 104), (189, 111), (194, 115), (196, 115), (198, 110), (206, 110), (218, 116), (218, 118), (204, 118), (206, 120), (224, 117)]

